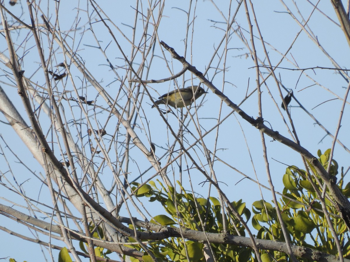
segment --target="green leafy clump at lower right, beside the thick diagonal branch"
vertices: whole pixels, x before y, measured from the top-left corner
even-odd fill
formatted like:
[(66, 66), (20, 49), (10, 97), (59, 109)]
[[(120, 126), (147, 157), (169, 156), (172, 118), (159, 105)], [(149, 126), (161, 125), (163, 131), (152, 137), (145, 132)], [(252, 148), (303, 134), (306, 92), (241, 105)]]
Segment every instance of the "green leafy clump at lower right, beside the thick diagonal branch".
[[(330, 150), (326, 150), (324, 154), (318, 151), (319, 161), (327, 170)], [(338, 255), (334, 238), (329, 230), (329, 225), (325, 220), (322, 211), (322, 205), (319, 197), (322, 194), (323, 184), (320, 184), (320, 177), (317, 175), (316, 169), (308, 163), (311, 174), (296, 166), (290, 166), (286, 169), (282, 181), (284, 185), (283, 196), (279, 203), (283, 223), (285, 224), (291, 243), (293, 245), (303, 245), (318, 249), (322, 252)], [(332, 160), (330, 166), (330, 175), (338, 174), (338, 164)], [(338, 181), (339, 188), (343, 185), (343, 173)], [(321, 194), (316, 194), (316, 190)], [(350, 196), (349, 183), (343, 189), (345, 196)], [(350, 258), (349, 238), (345, 237), (347, 232), (344, 221), (338, 218), (338, 213), (331, 204), (331, 199), (324, 199), (326, 208), (330, 213), (333, 227), (341, 241), (343, 247), (343, 255)], [(285, 241), (280, 223), (276, 216), (276, 209), (269, 203), (262, 200), (253, 203), (254, 216), (252, 225), (259, 230), (258, 238)], [(274, 252), (274, 258), (279, 261), (284, 260), (282, 257), (286, 254)], [(264, 256), (268, 259), (267, 256)], [(268, 260), (266, 260), (268, 261)], [(301, 260), (304, 261), (304, 260)]]

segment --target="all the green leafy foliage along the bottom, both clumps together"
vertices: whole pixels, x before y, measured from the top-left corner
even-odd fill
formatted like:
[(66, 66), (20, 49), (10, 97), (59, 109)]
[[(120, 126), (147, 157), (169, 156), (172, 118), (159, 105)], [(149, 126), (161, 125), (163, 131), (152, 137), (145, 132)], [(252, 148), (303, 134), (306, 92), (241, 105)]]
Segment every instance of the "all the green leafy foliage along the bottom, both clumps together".
[[(330, 150), (325, 151), (324, 154), (318, 151), (317, 154), (319, 161), (327, 169)], [(338, 255), (334, 238), (330, 233), (319, 199), (320, 192), (323, 190), (323, 184), (320, 182), (316, 169), (310, 163), (308, 165), (311, 173), (296, 166), (286, 168), (286, 173), (282, 177), (284, 189), (278, 203), (278, 210), (271, 203), (264, 200), (255, 201), (252, 205), (253, 216), (251, 222), (258, 231), (256, 234), (257, 238), (285, 241), (276, 213), (281, 212), (283, 223), (289, 234), (290, 243)], [(331, 176), (338, 175), (338, 164), (335, 160), (331, 162), (330, 174)], [(180, 194), (176, 193), (174, 188), (167, 190), (162, 186), (161, 182), (159, 184), (161, 189), (158, 189), (153, 181), (142, 186), (134, 182), (131, 188), (136, 196), (147, 197), (150, 202), (159, 202), (167, 212), (167, 215), (156, 214), (151, 220), (152, 223), (210, 233), (222, 233), (224, 225), (227, 225), (228, 234), (245, 236), (244, 227), (233, 214), (227, 212), (225, 215), (222, 214), (222, 205), (217, 198), (210, 197), (205, 199), (195, 197), (193, 194), (187, 194), (181, 185), (183, 193)], [(341, 172), (337, 184), (339, 188), (343, 188), (343, 172)], [(344, 195), (349, 197), (350, 183), (346, 184), (342, 190)], [(338, 218), (339, 216), (332, 205), (331, 199), (326, 197), (324, 203), (327, 211), (330, 213), (332, 226), (335, 228), (336, 234), (341, 241), (343, 255), (345, 258), (350, 259), (350, 239), (348, 236), (345, 236), (347, 227), (344, 221)], [(231, 205), (246, 221), (251, 218), (251, 212), (241, 199), (237, 202), (232, 202)], [(129, 225), (129, 227), (132, 228), (132, 225)], [(137, 229), (142, 231), (142, 228)], [(90, 224), (90, 231), (93, 233), (94, 238), (104, 239), (102, 228)], [(139, 245), (134, 243), (134, 239), (129, 238), (129, 241), (130, 243), (125, 246), (145, 252)], [(80, 242), (79, 245), (83, 252), (87, 253), (84, 243)], [(203, 253), (205, 246), (200, 242), (182, 238), (168, 238), (149, 242), (148, 248), (156, 257), (156, 261), (205, 261)], [(250, 248), (211, 243), (211, 249), (217, 261), (248, 262), (255, 260)], [(260, 250), (260, 252), (263, 262), (288, 260), (288, 255), (285, 253), (268, 250)], [(96, 256), (108, 258), (106, 255), (109, 253), (109, 250), (99, 247), (95, 248)], [(142, 256), (142, 260), (146, 262), (153, 261), (147, 252)], [(306, 261), (300, 258), (298, 260)], [(71, 261), (66, 248), (61, 250), (59, 261)], [(136, 262), (138, 260), (131, 258), (131, 261)]]

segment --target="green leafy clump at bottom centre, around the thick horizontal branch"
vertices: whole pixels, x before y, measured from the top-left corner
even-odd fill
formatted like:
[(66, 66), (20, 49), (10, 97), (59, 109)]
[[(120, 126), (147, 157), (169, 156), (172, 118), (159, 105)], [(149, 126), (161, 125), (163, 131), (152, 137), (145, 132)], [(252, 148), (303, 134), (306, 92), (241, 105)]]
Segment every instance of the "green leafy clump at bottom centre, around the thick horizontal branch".
[[(165, 211), (168, 213), (168, 216), (164, 214), (154, 216), (151, 220), (152, 223), (168, 226), (177, 225), (178, 227), (180, 226), (192, 230), (205, 230), (206, 232), (211, 233), (221, 233), (224, 230), (223, 219), (225, 219), (225, 224), (228, 225), (229, 234), (238, 235), (239, 232), (240, 235), (245, 235), (243, 226), (233, 214), (223, 217), (221, 205), (217, 198), (210, 197), (209, 199), (205, 199), (196, 198), (193, 194), (178, 194), (175, 193), (174, 188), (170, 188), (169, 191), (166, 190), (162, 187), (161, 183), (161, 190), (159, 190), (153, 181), (151, 181), (149, 185), (151, 185), (152, 188), (145, 187), (145, 185), (139, 187), (140, 184), (133, 183), (134, 187), (132, 190), (138, 196), (149, 197), (150, 202), (157, 201), (161, 203)], [(183, 188), (182, 191), (186, 192)], [(232, 202), (231, 204), (237, 212), (246, 219), (246, 221), (250, 219), (251, 212), (246, 208), (246, 205), (242, 200)], [(132, 226), (130, 225), (130, 227)], [(238, 232), (236, 231), (236, 228)], [(138, 228), (138, 230), (141, 230), (141, 228)], [(134, 242), (132, 238), (129, 240), (130, 242)], [(141, 250), (138, 245), (127, 246)], [(180, 238), (169, 238), (151, 242), (148, 246), (153, 254), (160, 258), (161, 261), (205, 261), (203, 255), (203, 243), (183, 240)], [(216, 243), (212, 243), (211, 248), (217, 259), (220, 261), (245, 262), (252, 259), (252, 252), (249, 248)], [(151, 257), (147, 255), (143, 258), (147, 260), (151, 259)]]

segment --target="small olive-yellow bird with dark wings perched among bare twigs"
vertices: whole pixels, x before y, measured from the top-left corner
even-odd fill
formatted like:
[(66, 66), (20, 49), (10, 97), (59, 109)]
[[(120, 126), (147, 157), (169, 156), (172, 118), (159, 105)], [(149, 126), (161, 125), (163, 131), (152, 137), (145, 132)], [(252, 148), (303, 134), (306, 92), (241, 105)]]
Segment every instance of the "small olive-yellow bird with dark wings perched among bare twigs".
[[(173, 91), (169, 92), (168, 94), (164, 94), (161, 97), (159, 97), (160, 99), (155, 101), (154, 103), (155, 104), (168, 104), (168, 105), (171, 105), (172, 107), (184, 107), (184, 106), (192, 104), (193, 91), (195, 91), (195, 95), (196, 95), (195, 99), (197, 99), (198, 97), (200, 97), (201, 95), (203, 95), (205, 93), (208, 93), (208, 92), (205, 92), (202, 87), (198, 88), (198, 86), (193, 86), (193, 87), (189, 86), (186, 88), (173, 90)], [(182, 96), (182, 98), (181, 98), (181, 96)], [(185, 104), (183, 102), (185, 102)], [(155, 107), (155, 104), (152, 105), (152, 108)]]

